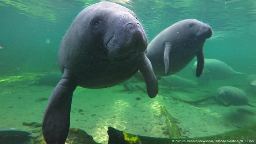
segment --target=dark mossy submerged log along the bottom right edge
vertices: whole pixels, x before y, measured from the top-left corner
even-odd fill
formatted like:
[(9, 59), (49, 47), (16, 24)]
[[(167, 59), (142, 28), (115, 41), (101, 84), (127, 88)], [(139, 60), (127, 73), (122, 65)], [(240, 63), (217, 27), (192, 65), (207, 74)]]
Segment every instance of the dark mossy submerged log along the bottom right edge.
[(108, 128), (108, 135), (108, 144), (252, 144), (256, 142), (256, 122), (243, 128), (239, 128), (222, 134), (195, 138), (165, 139), (157, 137), (138, 136), (134, 134), (125, 133), (112, 127)]

